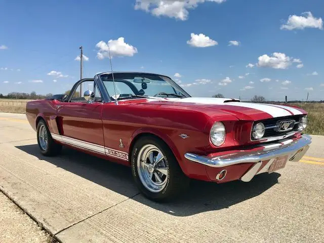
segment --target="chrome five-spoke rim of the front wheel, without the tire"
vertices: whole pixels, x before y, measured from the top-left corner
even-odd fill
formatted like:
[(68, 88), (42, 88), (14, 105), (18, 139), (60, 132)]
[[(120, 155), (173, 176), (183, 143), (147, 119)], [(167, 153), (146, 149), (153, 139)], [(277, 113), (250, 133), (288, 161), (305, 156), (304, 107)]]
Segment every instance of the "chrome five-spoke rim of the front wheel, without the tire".
[(160, 192), (168, 181), (169, 167), (163, 153), (154, 145), (144, 145), (138, 153), (137, 171), (142, 184), (151, 192)]

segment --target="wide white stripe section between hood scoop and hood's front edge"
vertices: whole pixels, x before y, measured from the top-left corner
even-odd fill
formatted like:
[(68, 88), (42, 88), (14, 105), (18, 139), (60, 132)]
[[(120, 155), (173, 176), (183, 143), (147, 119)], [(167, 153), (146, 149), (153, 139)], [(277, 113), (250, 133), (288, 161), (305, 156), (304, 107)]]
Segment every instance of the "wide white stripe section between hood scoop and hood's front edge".
[(280, 107), (258, 104), (258, 103), (244, 103), (244, 102), (227, 102), (224, 105), (233, 105), (239, 107), (252, 108), (256, 110), (261, 110), (263, 112), (268, 113), (272, 117), (280, 117), (280, 116), (289, 116), (292, 115), (288, 110), (282, 109)]

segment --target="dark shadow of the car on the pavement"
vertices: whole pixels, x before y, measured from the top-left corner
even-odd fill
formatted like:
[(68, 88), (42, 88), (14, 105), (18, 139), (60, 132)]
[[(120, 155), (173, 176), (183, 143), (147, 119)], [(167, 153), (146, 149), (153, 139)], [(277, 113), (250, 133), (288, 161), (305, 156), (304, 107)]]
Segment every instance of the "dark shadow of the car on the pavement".
[(264, 173), (255, 176), (250, 182), (233, 181), (224, 184), (191, 180), (189, 190), (179, 198), (169, 203), (155, 203), (139, 194), (130, 167), (66, 147), (56, 157), (43, 156), (37, 144), (16, 147), (143, 205), (180, 217), (229, 208), (262, 194), (278, 183), (280, 177), (278, 173)]

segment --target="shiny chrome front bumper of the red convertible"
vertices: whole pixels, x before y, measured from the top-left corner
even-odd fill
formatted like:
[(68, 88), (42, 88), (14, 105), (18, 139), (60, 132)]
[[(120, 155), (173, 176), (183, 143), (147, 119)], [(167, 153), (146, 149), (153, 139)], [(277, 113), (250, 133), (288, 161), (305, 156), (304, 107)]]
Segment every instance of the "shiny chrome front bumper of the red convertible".
[[(252, 169), (255, 170), (254, 173), (255, 175), (262, 165), (261, 161), (265, 161), (265, 160), (271, 161), (274, 158), (283, 155), (288, 155), (288, 160), (290, 161), (299, 161), (302, 158), (302, 156), (304, 156), (304, 154), (307, 152), (310, 143), (311, 143), (311, 137), (309, 135), (304, 134), (302, 135), (301, 138), (291, 142), (290, 144), (282, 145), (275, 149), (268, 149), (268, 150), (264, 149), (264, 150), (258, 150), (253, 152), (240, 151), (240, 152), (221, 155), (213, 158), (207, 156), (200, 156), (193, 153), (186, 153), (184, 156), (185, 158), (194, 161), (196, 163), (200, 163), (205, 166), (216, 167), (216, 168), (243, 164), (243, 163), (256, 163), (256, 165), (250, 169), (250, 170)], [(266, 167), (269, 169), (268, 165)], [(261, 171), (264, 171), (264, 168), (262, 168)], [(257, 174), (260, 174), (261, 171), (258, 172)]]

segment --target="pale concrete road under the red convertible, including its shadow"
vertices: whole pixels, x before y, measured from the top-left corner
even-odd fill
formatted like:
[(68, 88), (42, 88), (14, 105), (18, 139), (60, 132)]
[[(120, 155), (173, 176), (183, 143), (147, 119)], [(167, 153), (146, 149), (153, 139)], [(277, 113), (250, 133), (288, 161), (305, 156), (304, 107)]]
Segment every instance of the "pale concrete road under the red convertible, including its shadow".
[(278, 173), (193, 181), (168, 204), (127, 167), (67, 148), (44, 157), (35, 138), (24, 115), (0, 113), (0, 189), (62, 242), (324, 241), (324, 137)]

